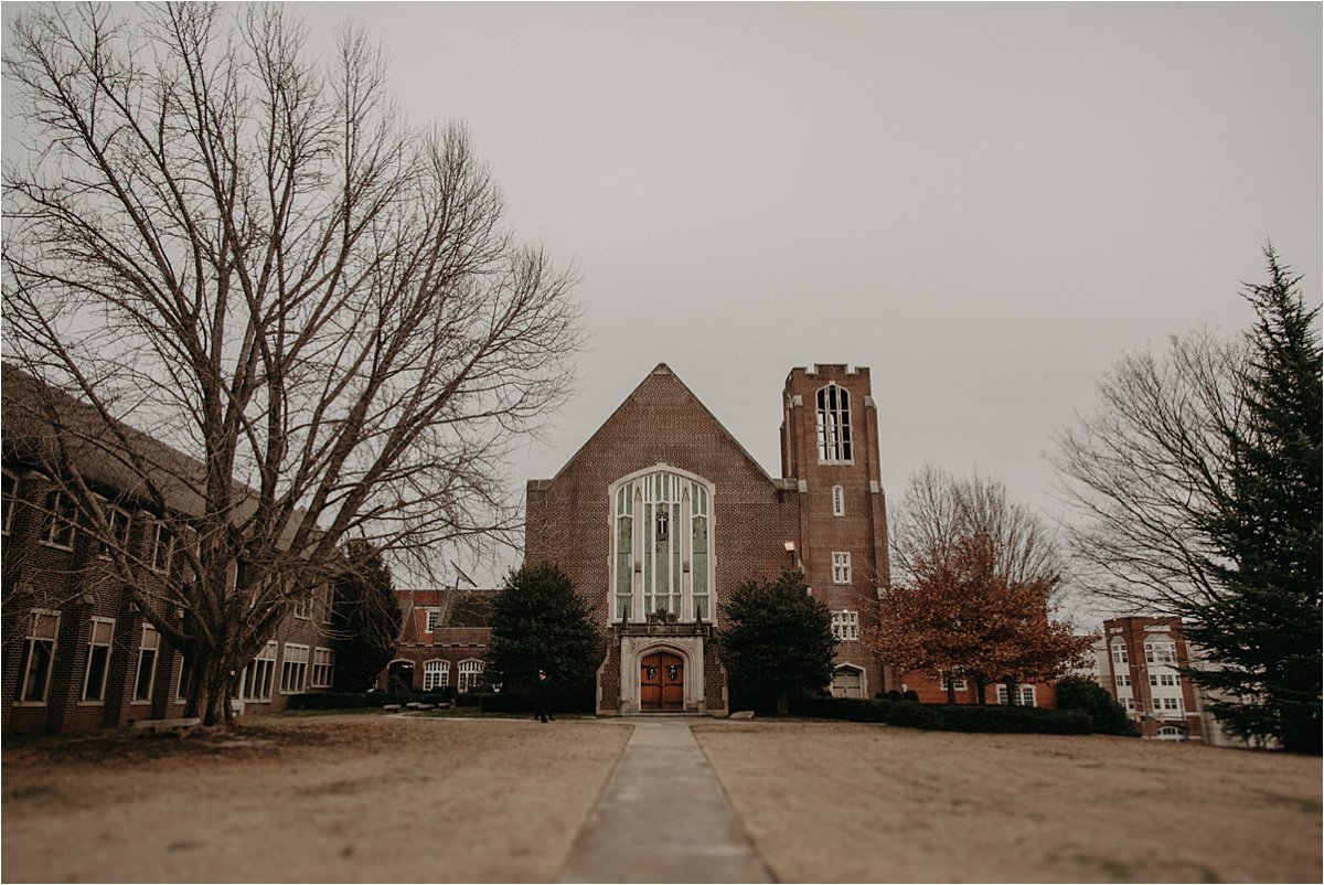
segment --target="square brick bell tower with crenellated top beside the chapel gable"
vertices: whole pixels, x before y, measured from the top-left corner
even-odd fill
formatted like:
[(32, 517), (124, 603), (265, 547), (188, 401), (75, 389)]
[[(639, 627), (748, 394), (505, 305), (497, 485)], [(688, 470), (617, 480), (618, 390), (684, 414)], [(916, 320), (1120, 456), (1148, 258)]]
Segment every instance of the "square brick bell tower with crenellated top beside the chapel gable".
[(878, 408), (869, 368), (793, 368), (782, 391), (781, 473), (800, 495), (796, 563), (833, 612), (839, 640), (833, 694), (896, 688), (861, 641), (878, 624), (890, 580), (887, 501), (879, 477)]

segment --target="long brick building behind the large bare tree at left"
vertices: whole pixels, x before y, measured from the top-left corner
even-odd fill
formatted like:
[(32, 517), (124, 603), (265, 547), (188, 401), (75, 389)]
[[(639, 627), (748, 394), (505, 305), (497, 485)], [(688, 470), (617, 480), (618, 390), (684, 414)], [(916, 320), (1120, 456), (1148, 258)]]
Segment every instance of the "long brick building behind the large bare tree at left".
[[(90, 407), (13, 366), (3, 371), (4, 733), (87, 731), (183, 715), (187, 658), (130, 599), (105, 547), (79, 527), (73, 499), (42, 472), (50, 437), (46, 407), (56, 404), (65, 421), (86, 419)], [(127, 436), (147, 461), (187, 470), (180, 452), (142, 433)], [(114, 458), (89, 460), (79, 469), (111, 505), (117, 543), (138, 563), (135, 583), (163, 599), (152, 590), (185, 568), (176, 551), (187, 539), (171, 535), (163, 514), (154, 513)], [(196, 502), (181, 493), (168, 503), (187, 522)], [(160, 617), (184, 616), (162, 604)], [(328, 590), (318, 588), (294, 607), (236, 674), (236, 706), (279, 710), (294, 694), (330, 689), (330, 604)]]

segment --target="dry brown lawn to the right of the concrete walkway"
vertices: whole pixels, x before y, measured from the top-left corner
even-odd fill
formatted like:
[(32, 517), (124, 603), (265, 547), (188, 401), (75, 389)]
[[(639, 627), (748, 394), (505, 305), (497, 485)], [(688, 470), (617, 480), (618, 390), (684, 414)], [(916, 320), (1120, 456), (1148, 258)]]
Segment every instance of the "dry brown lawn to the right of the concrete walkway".
[(780, 881), (1320, 881), (1320, 759), (828, 722), (694, 729)]

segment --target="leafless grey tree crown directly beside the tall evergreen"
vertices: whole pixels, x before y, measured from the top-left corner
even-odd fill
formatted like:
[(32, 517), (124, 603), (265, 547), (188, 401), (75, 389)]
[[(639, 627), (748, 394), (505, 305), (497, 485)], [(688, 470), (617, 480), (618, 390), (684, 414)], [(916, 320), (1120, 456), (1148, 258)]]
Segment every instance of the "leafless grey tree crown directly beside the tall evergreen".
[(1217, 598), (1201, 526), (1229, 499), (1247, 351), (1207, 330), (1123, 356), (1100, 404), (1058, 437), (1076, 580), (1119, 611), (1189, 612)]

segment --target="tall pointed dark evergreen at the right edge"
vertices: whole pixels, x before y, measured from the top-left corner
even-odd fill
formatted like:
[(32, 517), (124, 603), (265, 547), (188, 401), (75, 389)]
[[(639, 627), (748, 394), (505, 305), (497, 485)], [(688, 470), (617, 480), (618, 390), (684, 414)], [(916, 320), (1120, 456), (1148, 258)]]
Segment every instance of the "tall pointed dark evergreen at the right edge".
[(1190, 640), (1215, 668), (1214, 714), (1250, 739), (1320, 753), (1321, 358), (1319, 309), (1300, 277), (1264, 250), (1270, 282), (1246, 298), (1258, 315), (1246, 423), (1231, 443), (1231, 490), (1206, 530), (1219, 592), (1198, 607)]

